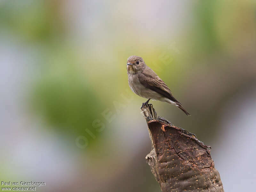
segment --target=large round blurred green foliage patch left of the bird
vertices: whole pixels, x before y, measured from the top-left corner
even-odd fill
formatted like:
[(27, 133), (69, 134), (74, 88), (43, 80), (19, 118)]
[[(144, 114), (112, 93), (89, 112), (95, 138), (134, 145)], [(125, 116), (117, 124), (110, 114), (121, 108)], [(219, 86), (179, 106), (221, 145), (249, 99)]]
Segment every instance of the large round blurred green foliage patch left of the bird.
[(64, 62), (53, 64), (37, 81), (33, 107), (62, 131), (81, 133), (92, 126), (102, 104), (78, 69)]

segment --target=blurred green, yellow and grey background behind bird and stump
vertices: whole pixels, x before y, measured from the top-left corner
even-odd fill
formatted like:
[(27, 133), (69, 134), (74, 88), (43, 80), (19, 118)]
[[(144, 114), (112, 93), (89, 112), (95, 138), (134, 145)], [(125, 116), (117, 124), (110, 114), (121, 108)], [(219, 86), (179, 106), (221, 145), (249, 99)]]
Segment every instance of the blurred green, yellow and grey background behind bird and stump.
[[(143, 57), (212, 146), (225, 191), (256, 182), (256, 2), (0, 1), (0, 180), (37, 191), (160, 192), (126, 60)], [(3, 187), (3, 186), (2, 186)]]

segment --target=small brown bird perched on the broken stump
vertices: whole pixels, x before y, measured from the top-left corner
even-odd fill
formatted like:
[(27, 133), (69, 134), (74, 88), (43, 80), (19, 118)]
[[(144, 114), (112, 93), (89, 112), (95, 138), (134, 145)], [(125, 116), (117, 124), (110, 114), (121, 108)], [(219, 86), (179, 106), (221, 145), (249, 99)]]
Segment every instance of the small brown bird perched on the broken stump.
[(127, 59), (128, 82), (132, 92), (140, 97), (147, 98), (142, 103), (141, 108), (148, 104), (150, 99), (171, 103), (180, 108), (184, 113), (190, 115), (176, 100), (168, 86), (160, 79), (156, 73), (149, 68), (144, 60), (139, 56), (130, 56)]

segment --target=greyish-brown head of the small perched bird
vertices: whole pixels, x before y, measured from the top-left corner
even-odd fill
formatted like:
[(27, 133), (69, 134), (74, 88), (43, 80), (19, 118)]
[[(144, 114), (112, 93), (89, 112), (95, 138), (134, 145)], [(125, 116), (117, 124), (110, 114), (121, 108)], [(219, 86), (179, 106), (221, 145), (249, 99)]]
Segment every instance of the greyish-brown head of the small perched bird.
[(127, 68), (128, 74), (140, 73), (145, 69), (145, 67), (146, 67), (145, 62), (139, 56), (133, 55), (127, 59), (126, 68)]

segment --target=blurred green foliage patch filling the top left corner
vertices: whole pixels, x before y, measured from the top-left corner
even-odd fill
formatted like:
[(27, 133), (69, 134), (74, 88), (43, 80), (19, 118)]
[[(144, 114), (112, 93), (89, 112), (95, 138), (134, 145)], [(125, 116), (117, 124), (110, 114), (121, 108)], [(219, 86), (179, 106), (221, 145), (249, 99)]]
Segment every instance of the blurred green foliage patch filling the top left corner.
[(31, 43), (45, 43), (64, 31), (58, 1), (3, 1), (0, 25)]

